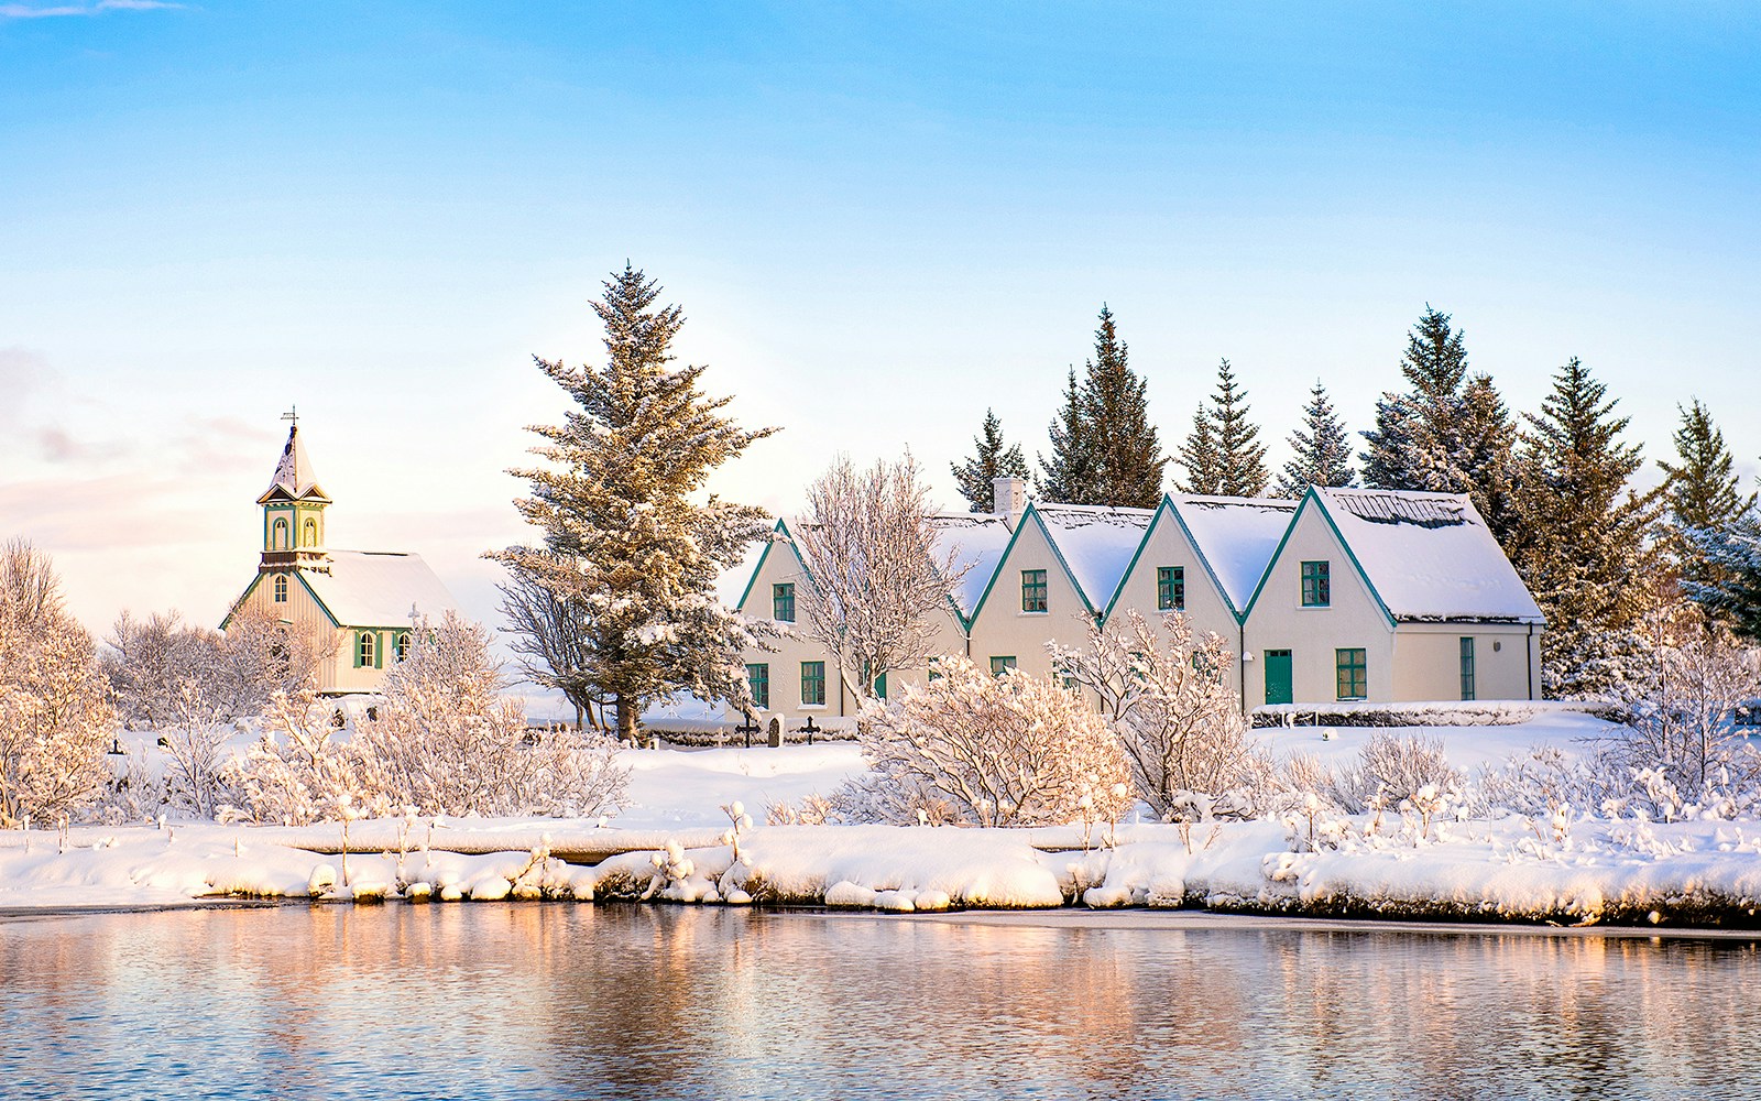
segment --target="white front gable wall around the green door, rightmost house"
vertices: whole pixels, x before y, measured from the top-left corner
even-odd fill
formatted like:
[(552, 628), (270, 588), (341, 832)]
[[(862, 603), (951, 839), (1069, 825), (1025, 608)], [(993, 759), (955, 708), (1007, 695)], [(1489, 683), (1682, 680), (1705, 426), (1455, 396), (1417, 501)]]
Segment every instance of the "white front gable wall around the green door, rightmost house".
[[(1303, 608), (1303, 562), (1328, 562), (1331, 601), (1326, 608)], [(1395, 632), (1375, 595), (1365, 585), (1351, 555), (1331, 525), (1312, 506), (1298, 511), (1294, 527), (1249, 610), (1245, 629), (1247, 706), (1266, 703), (1266, 650), (1291, 652), (1291, 699), (1333, 703), (1338, 699), (1340, 648), (1365, 652), (1367, 699), (1395, 699)]]

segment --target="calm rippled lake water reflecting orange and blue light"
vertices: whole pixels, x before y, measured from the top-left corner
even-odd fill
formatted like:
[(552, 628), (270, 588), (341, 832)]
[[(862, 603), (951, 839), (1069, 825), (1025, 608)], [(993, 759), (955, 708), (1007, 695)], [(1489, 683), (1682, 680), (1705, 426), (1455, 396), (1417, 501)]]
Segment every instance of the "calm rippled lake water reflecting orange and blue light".
[(1749, 941), (1025, 921), (0, 920), (0, 1097), (1761, 1096)]

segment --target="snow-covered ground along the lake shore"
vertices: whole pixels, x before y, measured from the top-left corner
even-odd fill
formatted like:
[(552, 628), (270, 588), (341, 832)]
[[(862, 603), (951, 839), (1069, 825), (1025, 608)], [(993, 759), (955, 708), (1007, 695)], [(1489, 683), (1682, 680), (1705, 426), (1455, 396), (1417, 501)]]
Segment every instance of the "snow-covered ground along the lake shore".
[[(1546, 713), (1437, 728), (1474, 770), (1532, 745), (1567, 752), (1606, 724)], [(1278, 754), (1347, 759), (1368, 729), (1261, 731)], [(377, 821), (350, 826), (83, 826), (0, 833), (0, 911), (176, 905), (192, 898), (659, 897), (891, 911), (1210, 905), (1242, 913), (1757, 925), (1761, 823), (1580, 817), (1238, 823), (1180, 830), (764, 826), (777, 800), (829, 793), (861, 770), (851, 743), (632, 750), (632, 807), (611, 821)], [(759, 821), (726, 844), (724, 805)], [(618, 854), (622, 853), (622, 854)], [(664, 865), (657, 868), (659, 863)]]

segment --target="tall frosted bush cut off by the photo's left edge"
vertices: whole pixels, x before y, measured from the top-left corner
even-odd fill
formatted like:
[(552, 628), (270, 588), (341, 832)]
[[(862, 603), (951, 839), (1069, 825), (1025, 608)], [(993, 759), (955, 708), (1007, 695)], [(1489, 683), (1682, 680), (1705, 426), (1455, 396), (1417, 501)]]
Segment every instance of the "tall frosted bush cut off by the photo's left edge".
[(0, 548), (0, 826), (88, 807), (111, 779), (116, 715), (92, 636), (67, 615), (49, 557)]

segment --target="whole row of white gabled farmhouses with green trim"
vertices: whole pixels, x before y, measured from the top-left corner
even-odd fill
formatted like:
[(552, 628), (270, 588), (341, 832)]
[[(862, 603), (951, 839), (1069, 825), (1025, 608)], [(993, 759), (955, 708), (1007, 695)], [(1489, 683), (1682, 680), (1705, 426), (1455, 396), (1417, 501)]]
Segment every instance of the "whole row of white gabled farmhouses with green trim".
[[(939, 650), (1051, 671), (1048, 641), (1088, 624), (1178, 611), (1238, 655), (1243, 710), (1268, 703), (1532, 699), (1543, 618), (1467, 497), (1310, 490), (1300, 500), (1168, 495), (1155, 509), (1027, 502), (997, 479), (997, 513), (932, 518), (970, 565)], [(810, 564), (777, 523), (738, 608), (798, 622)], [(803, 634), (747, 655), (766, 717), (854, 713), (836, 662)], [(928, 669), (893, 671), (896, 687)], [(886, 682), (877, 684), (886, 694)]]

